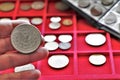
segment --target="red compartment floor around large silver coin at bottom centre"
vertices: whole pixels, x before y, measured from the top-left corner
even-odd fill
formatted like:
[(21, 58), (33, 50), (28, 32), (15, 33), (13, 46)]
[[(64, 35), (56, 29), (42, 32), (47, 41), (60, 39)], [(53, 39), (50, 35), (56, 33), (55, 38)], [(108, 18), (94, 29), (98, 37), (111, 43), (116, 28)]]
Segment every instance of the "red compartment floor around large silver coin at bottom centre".
[[(61, 54), (61, 53), (59, 53)], [(57, 54), (50, 54), (49, 57), (51, 55), (58, 55)], [(54, 68), (51, 68), (49, 65), (48, 65), (48, 58), (42, 60), (39, 64), (38, 64), (38, 69), (40, 69), (41, 73), (43, 76), (46, 76), (46, 75), (73, 75), (73, 66), (74, 66), (74, 63), (73, 63), (73, 54), (63, 54), (63, 55), (66, 55), (68, 56), (69, 58), (69, 64), (63, 68), (63, 69), (54, 69)]]

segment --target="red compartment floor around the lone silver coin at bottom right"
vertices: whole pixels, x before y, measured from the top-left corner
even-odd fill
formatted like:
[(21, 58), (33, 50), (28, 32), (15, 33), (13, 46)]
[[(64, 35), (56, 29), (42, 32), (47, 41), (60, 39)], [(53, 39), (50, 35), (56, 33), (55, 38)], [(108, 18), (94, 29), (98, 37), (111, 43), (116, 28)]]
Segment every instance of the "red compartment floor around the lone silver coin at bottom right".
[(109, 53), (99, 53), (106, 56), (106, 63), (95, 66), (89, 62), (89, 56), (95, 53), (78, 53), (78, 73), (79, 74), (111, 74), (111, 64)]

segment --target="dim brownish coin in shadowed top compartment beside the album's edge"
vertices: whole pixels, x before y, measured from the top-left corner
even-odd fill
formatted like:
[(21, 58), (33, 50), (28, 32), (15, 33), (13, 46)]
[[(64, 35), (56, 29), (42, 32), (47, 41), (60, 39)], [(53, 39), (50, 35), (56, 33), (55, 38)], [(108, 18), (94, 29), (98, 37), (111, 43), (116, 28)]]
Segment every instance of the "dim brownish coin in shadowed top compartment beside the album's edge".
[(65, 3), (59, 1), (55, 3), (55, 8), (60, 11), (66, 11), (69, 9), (69, 6), (66, 5)]

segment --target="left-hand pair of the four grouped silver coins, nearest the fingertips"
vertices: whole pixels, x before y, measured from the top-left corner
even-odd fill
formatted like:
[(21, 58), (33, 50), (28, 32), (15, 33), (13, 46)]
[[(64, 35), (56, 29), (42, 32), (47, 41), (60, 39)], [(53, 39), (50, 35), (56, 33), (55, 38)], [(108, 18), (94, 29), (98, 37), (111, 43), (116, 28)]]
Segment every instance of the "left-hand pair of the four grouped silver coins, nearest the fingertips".
[(46, 42), (45, 48), (47, 48), (49, 51), (58, 49), (58, 43), (55, 41), (56, 35), (45, 35), (44, 40)]

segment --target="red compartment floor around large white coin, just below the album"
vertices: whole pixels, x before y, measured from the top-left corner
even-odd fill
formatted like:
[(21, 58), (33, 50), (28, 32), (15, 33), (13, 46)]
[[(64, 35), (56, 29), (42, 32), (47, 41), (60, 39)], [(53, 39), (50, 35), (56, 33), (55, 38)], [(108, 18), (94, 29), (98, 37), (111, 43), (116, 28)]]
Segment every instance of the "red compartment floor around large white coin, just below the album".
[[(96, 32), (96, 33), (99, 33), (99, 32)], [(85, 42), (85, 37), (87, 34), (91, 34), (91, 33), (78, 33), (77, 34), (77, 51), (95, 51), (95, 52), (108, 51), (107, 40), (101, 46), (91, 46)], [(105, 33), (101, 33), (101, 34), (104, 34), (106, 36)]]

